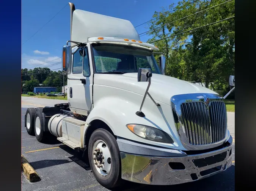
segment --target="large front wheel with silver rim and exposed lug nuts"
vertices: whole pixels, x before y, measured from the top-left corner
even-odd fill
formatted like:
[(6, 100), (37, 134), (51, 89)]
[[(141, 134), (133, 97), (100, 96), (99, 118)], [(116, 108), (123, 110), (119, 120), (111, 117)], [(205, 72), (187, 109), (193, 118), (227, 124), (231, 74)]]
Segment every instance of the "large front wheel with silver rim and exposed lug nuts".
[(114, 188), (120, 185), (120, 151), (115, 137), (110, 132), (105, 129), (93, 132), (89, 140), (88, 157), (94, 177), (102, 186)]

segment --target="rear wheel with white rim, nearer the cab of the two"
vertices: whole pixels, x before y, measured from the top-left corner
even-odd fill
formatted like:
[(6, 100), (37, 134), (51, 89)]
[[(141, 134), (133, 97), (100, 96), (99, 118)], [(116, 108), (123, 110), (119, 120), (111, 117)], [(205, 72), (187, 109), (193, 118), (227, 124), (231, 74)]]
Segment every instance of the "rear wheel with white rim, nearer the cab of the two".
[(35, 136), (39, 142), (44, 142), (47, 137), (47, 132), (44, 132), (43, 115), (41, 111), (36, 111), (35, 114)]

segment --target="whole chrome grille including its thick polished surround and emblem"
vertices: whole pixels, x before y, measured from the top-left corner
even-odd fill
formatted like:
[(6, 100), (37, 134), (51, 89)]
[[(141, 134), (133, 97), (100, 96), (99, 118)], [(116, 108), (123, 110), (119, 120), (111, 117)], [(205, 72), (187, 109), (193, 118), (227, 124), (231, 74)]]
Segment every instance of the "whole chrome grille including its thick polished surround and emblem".
[(214, 148), (226, 140), (224, 99), (217, 94), (181, 94), (171, 97), (173, 117), (181, 143), (187, 150)]

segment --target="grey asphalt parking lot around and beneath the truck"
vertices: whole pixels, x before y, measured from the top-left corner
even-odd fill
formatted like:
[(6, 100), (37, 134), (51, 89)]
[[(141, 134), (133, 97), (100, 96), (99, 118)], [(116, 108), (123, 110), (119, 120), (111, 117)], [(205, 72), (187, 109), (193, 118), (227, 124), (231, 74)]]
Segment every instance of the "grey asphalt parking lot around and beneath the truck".
[[(40, 191), (104, 191), (108, 190), (101, 186), (93, 176), (88, 161), (82, 159), (82, 153), (74, 151), (59, 142), (56, 137), (50, 137), (47, 143), (39, 143), (35, 136), (28, 135), (24, 116), (28, 107), (53, 106), (55, 103), (65, 103), (65, 100), (37, 99), (22, 97), (21, 108), (21, 135), (22, 135), (22, 154), (30, 162), (30, 165), (37, 171), (41, 180), (31, 183), (22, 173), (22, 190)], [(234, 138), (234, 113), (228, 113), (228, 129)], [(235, 144), (232, 146), (233, 165), (224, 171), (207, 179), (202, 179), (192, 183), (171, 186), (152, 186), (140, 185), (126, 182), (117, 190), (234, 190), (235, 172)]]

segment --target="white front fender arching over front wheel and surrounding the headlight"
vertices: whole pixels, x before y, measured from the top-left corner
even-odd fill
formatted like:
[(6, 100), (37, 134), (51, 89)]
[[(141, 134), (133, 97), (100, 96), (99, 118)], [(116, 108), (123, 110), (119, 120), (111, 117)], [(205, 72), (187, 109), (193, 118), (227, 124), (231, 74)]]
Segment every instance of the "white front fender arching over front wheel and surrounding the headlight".
[[(136, 99), (132, 98), (133, 96), (130, 97), (129, 101), (121, 99), (121, 97), (117, 96), (101, 97), (101, 99), (94, 104), (94, 108), (86, 119), (86, 123), (90, 124), (95, 119), (102, 120), (109, 126), (115, 136), (137, 142), (148, 143), (150, 145), (186, 150), (179, 140), (179, 136), (172, 118), (165, 117), (163, 115), (164, 113), (172, 114), (170, 105), (160, 103), (160, 106), (155, 106), (152, 100), (150, 100), (149, 97), (146, 97), (143, 107), (143, 112), (146, 114), (146, 116), (139, 117), (135, 114), (135, 112), (138, 111), (139, 104), (141, 103), (143, 96), (134, 93), (130, 95), (135, 95)], [(133, 132), (126, 127), (126, 125), (129, 123), (148, 125), (161, 129), (169, 134), (174, 143), (160, 143), (143, 139), (133, 134)], [(86, 129), (84, 131), (84, 134), (85, 133)]]

